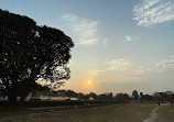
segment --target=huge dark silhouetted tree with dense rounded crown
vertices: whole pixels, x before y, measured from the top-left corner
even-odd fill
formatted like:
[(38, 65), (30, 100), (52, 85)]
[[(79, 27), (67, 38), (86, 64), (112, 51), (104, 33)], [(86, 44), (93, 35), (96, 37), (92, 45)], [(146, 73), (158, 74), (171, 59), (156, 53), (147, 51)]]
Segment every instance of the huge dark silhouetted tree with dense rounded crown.
[[(9, 101), (23, 101), (40, 88), (39, 78), (59, 86), (70, 76), (72, 38), (62, 31), (39, 26), (32, 19), (0, 10), (0, 89)], [(58, 68), (57, 68), (58, 67)]]

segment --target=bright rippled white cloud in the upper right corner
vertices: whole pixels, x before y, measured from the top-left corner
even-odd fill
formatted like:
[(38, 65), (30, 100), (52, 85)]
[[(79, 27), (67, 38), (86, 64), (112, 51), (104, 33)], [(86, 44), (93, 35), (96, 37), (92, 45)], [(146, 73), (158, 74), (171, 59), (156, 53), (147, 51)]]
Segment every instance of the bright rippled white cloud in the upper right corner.
[(174, 20), (173, 0), (141, 0), (141, 3), (133, 8), (137, 25), (153, 26)]

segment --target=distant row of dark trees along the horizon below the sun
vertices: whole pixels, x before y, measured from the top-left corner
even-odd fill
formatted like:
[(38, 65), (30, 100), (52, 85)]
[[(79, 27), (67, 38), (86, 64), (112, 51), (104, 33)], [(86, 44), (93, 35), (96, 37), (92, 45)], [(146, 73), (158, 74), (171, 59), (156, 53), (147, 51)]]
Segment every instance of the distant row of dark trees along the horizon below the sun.
[[(47, 97), (62, 97), (67, 98), (66, 100), (74, 100), (79, 101), (117, 101), (117, 102), (172, 102), (174, 101), (174, 92), (165, 91), (165, 92), (154, 92), (153, 95), (144, 95), (143, 92), (138, 92), (137, 90), (132, 91), (132, 95), (129, 96), (128, 93), (116, 93), (106, 92), (101, 95), (97, 95), (95, 92), (90, 93), (83, 93), (83, 92), (75, 92), (73, 90), (58, 90), (58, 91), (51, 91), (42, 90), (42, 91), (34, 91), (31, 93), (31, 98), (40, 98), (41, 96)], [(34, 100), (34, 99), (33, 99)]]

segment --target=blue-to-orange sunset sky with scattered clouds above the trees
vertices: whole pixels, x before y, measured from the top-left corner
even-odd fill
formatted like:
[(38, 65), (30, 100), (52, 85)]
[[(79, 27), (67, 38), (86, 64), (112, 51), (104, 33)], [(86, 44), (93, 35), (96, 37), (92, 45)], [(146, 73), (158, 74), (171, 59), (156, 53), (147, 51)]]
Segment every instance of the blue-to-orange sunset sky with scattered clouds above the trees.
[(72, 37), (72, 77), (61, 89), (174, 91), (174, 0), (0, 0), (0, 9)]

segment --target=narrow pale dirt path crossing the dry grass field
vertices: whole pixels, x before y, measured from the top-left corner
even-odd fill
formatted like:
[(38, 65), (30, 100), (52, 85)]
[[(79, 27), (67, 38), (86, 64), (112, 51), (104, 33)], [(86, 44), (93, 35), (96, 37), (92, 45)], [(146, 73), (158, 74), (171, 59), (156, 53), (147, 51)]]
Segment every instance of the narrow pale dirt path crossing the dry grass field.
[(156, 111), (159, 110), (159, 107), (154, 108), (152, 112), (150, 113), (149, 118), (143, 120), (142, 122), (154, 122), (154, 119), (157, 117)]

